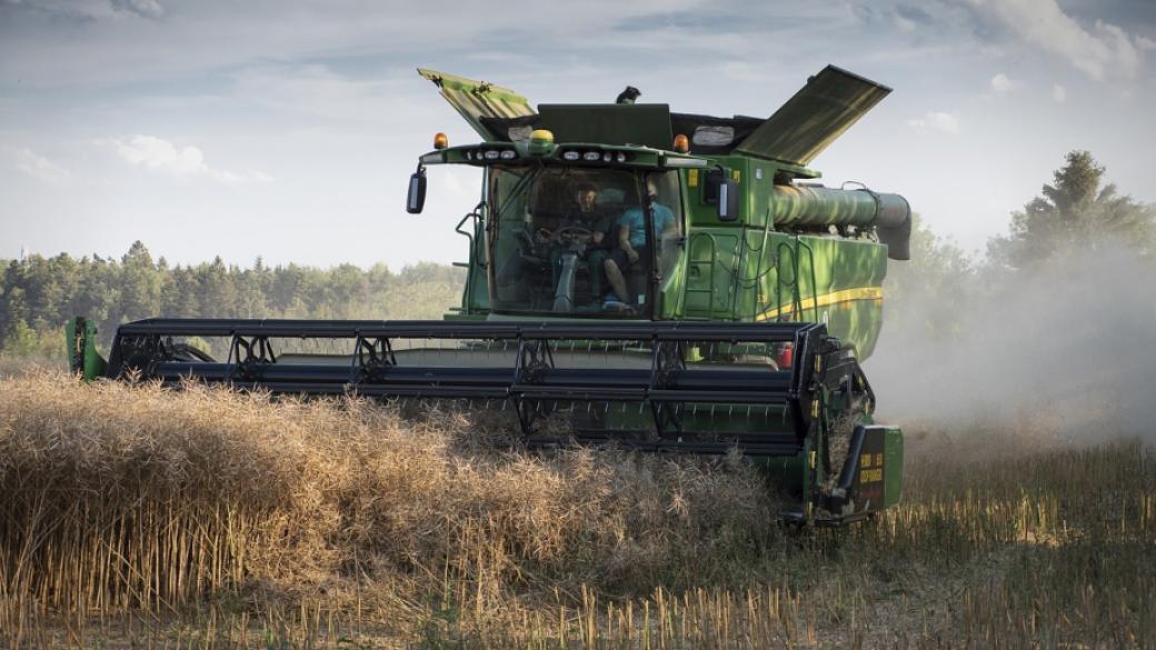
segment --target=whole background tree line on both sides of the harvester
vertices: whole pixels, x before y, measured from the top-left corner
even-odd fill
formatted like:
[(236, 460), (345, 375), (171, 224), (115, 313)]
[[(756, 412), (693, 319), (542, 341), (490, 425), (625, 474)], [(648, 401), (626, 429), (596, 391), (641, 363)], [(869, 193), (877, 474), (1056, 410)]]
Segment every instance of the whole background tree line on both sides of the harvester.
[[(891, 265), (884, 291), (889, 327), (950, 334), (969, 293), (1042, 268), (1065, 254), (1126, 246), (1151, 259), (1156, 210), (1105, 183), (1088, 152), (1072, 152), (1040, 195), (1011, 214), (1008, 234), (977, 260), (917, 224), (912, 259)], [(314, 268), (252, 267), (220, 258), (195, 266), (154, 260), (141, 242), (119, 260), (67, 253), (0, 260), (0, 354), (58, 357), (64, 323), (96, 320), (106, 345), (117, 325), (153, 316), (178, 318), (439, 318), (457, 305), (461, 268), (418, 264), (399, 273), (383, 264)], [(912, 323), (917, 317), (919, 323)], [(906, 319), (906, 322), (904, 322)]]

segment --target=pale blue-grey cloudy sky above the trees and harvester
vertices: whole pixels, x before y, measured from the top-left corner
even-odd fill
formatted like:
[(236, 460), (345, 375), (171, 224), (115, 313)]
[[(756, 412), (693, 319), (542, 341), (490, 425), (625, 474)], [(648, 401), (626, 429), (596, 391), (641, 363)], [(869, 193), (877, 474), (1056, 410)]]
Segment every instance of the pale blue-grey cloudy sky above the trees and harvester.
[(966, 251), (1088, 149), (1156, 202), (1150, 0), (0, 0), (0, 259), (391, 268), (466, 257), (477, 139), (416, 67), (532, 104), (770, 116), (833, 64), (894, 88), (812, 164), (905, 195)]

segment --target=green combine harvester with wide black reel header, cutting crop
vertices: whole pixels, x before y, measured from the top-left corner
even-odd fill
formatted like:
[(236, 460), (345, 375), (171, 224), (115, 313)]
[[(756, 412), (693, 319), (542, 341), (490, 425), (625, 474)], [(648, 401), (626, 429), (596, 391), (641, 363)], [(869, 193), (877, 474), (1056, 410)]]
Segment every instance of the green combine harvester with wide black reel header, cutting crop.
[(839, 525), (899, 501), (903, 437), (875, 424), (860, 361), (887, 260), (907, 259), (897, 194), (817, 183), (812, 160), (890, 90), (828, 66), (768, 119), (636, 104), (542, 104), (418, 71), (481, 136), (427, 169), (482, 172), (458, 223), (467, 281), (443, 320), (163, 319), (121, 325), (105, 361), (84, 318), (72, 367), (179, 385), (452, 400), (507, 411), (528, 448), (739, 452), (788, 495), (786, 520)]

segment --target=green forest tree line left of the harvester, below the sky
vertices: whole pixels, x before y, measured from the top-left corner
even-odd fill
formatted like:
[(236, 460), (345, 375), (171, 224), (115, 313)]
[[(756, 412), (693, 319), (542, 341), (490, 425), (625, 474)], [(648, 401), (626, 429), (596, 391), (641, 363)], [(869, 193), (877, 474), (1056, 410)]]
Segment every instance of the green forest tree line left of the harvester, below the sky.
[(102, 344), (117, 325), (172, 318), (440, 318), (461, 300), (464, 269), (422, 263), (316, 268), (210, 263), (170, 266), (135, 242), (119, 260), (67, 253), (0, 260), (0, 354), (64, 357), (64, 324), (97, 323)]

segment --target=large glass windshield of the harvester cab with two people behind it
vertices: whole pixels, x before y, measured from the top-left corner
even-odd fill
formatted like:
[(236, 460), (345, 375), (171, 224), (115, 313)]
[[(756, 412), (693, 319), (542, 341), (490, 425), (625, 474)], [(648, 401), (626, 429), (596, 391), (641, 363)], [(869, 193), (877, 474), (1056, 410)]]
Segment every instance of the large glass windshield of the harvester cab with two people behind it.
[(652, 269), (677, 260), (677, 172), (490, 168), (488, 198), (495, 310), (650, 316)]

